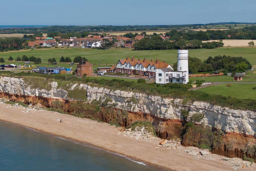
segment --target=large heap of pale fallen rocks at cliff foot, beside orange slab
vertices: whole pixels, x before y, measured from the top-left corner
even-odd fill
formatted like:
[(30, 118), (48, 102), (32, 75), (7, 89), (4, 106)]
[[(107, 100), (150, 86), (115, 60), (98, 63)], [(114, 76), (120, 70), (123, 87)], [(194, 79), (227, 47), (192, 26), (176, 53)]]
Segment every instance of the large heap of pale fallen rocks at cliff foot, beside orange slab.
[(136, 139), (143, 139), (145, 141), (149, 141), (150, 139), (157, 139), (157, 137), (153, 136), (151, 132), (148, 131), (145, 126), (137, 126), (134, 130), (131, 128), (122, 130), (125, 136), (134, 137)]

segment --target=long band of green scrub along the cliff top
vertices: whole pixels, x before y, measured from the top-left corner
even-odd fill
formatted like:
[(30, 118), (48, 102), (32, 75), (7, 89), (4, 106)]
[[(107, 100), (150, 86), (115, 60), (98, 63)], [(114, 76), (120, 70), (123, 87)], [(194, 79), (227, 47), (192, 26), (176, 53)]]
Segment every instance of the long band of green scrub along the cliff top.
[[(36, 73), (29, 73), (29, 72), (20, 72), (20, 73), (13, 73), (8, 71), (0, 72), (0, 76), (7, 76), (7, 77), (22, 77), (22, 78), (29, 78), (31, 81), (36, 81), (36, 78), (41, 79), (41, 77), (45, 78), (48, 81), (45, 81), (44, 84), (48, 85), (49, 81), (57, 81), (58, 83), (86, 83), (91, 86), (97, 87), (106, 87), (112, 90), (124, 90), (124, 91), (133, 91), (144, 93), (148, 95), (155, 95), (161, 97), (170, 97), (170, 98), (179, 98), (184, 99), (184, 101), (205, 101), (210, 104), (219, 105), (222, 107), (230, 107), (232, 109), (241, 109), (241, 110), (252, 110), (256, 111), (256, 100), (252, 99), (237, 99), (233, 97), (224, 97), (221, 95), (215, 94), (207, 94), (201, 91), (188, 91), (187, 89), (190, 88), (190, 85), (184, 84), (177, 84), (177, 83), (169, 83), (165, 85), (160, 84), (143, 84), (143, 83), (136, 83), (136, 82), (129, 82), (120, 79), (112, 79), (112, 80), (105, 80), (104, 78), (99, 80), (95, 78), (77, 78), (77, 77), (70, 77), (65, 75), (46, 75), (46, 74), (36, 74)], [(42, 83), (41, 83), (42, 84)]]

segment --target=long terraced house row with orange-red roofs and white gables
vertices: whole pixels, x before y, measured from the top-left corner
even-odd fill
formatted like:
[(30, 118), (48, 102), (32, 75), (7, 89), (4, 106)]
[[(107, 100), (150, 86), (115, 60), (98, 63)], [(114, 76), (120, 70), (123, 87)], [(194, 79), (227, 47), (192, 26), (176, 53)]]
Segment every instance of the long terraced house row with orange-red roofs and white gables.
[(159, 69), (170, 68), (173, 70), (172, 66), (165, 61), (160, 62), (158, 59), (153, 61), (152, 59), (149, 61), (147, 58), (143, 60), (135, 59), (132, 57), (129, 59), (120, 59), (116, 64), (116, 73), (126, 73), (126, 74), (138, 74), (138, 75), (150, 75), (156, 76), (156, 72)]

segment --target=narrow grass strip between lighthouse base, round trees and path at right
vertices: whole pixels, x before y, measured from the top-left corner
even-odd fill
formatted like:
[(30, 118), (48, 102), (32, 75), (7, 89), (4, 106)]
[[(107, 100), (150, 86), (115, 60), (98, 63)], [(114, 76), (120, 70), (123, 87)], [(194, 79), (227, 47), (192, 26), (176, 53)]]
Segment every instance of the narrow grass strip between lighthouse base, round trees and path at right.
[[(243, 77), (242, 81), (239, 82), (255, 82), (256, 83), (256, 74), (254, 74), (254, 77)], [(189, 81), (196, 81), (196, 80), (205, 80), (205, 82), (237, 82), (233, 81), (233, 77), (231, 76), (215, 76), (215, 77), (189, 77)]]

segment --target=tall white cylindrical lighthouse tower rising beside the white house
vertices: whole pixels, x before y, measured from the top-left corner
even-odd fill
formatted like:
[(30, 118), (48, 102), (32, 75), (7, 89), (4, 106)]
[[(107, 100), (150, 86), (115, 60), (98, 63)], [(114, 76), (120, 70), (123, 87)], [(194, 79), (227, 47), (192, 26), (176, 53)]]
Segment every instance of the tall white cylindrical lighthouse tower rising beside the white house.
[(188, 83), (188, 50), (178, 50), (177, 71), (182, 72), (182, 83)]

